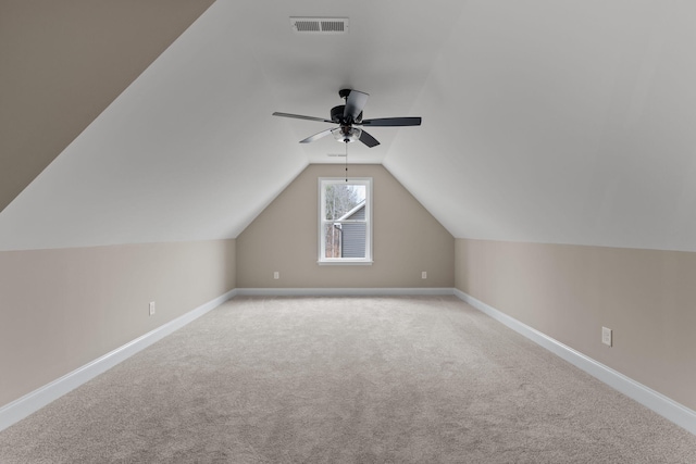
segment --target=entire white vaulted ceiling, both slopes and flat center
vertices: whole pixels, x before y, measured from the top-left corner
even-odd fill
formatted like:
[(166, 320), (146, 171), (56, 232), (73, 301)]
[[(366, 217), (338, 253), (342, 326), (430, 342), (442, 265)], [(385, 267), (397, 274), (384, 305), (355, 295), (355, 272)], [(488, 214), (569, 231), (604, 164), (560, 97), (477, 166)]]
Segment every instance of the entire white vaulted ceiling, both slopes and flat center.
[[(289, 16), (350, 18), (346, 35)], [(455, 237), (696, 251), (696, 3), (217, 0), (0, 212), (0, 250), (234, 238), (337, 91)]]

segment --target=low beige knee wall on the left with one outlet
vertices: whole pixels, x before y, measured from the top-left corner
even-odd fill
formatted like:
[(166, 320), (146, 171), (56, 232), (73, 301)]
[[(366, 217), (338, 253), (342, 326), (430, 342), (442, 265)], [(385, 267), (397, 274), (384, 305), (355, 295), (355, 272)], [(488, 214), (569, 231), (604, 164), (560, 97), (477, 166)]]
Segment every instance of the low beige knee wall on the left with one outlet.
[(232, 290), (235, 272), (235, 240), (0, 252), (0, 406)]

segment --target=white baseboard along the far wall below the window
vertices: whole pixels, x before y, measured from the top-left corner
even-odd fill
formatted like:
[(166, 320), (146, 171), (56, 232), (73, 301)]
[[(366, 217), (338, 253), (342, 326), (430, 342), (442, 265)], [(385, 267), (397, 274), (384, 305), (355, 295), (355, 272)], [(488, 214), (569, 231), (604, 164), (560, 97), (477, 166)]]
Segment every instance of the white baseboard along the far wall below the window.
[(453, 294), (447, 288), (238, 288), (240, 297), (398, 297), (415, 294)]

